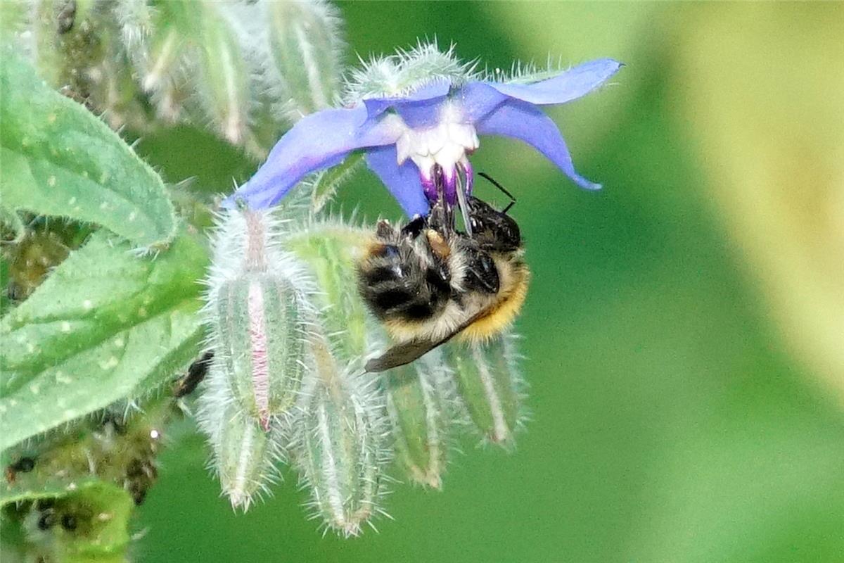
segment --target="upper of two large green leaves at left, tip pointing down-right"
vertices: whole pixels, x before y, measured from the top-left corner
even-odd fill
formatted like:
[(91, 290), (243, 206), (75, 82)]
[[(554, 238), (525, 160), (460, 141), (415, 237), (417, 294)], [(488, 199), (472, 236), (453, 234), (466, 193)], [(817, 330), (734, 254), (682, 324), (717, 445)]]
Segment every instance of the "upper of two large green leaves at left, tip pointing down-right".
[(0, 121), (4, 207), (97, 223), (138, 246), (175, 235), (160, 176), (9, 48), (0, 57)]

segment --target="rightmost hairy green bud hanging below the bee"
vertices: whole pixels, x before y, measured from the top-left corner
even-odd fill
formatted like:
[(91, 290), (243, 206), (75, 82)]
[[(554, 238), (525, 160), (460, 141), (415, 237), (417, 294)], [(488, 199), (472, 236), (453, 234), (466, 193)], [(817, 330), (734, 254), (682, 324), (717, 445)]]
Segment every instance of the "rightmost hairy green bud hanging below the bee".
[(485, 344), (452, 341), (444, 347), (473, 425), (484, 440), (502, 447), (512, 446), (525, 418), (516, 339), (506, 333)]

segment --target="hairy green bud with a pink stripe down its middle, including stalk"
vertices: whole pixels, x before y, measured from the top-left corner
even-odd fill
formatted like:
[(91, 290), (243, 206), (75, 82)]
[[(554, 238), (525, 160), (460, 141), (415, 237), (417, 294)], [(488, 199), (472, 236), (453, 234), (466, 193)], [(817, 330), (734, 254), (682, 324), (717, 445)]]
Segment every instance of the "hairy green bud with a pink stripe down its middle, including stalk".
[(214, 365), (237, 408), (265, 431), (295, 403), (316, 315), (309, 275), (279, 248), (280, 230), (268, 212), (225, 215), (205, 307)]

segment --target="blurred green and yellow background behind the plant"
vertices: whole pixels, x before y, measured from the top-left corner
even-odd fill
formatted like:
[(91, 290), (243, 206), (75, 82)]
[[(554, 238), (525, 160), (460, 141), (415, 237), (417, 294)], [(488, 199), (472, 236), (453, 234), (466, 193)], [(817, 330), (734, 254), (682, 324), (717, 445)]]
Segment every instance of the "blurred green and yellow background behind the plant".
[[(397, 486), (395, 521), (349, 540), (317, 533), (292, 474), (233, 513), (185, 431), (137, 560), (844, 560), (844, 4), (340, 7), (349, 63), (435, 36), (489, 68), (627, 63), (552, 110), (602, 192), (517, 142), (473, 158), (518, 198), (532, 420), (511, 454), (464, 442), (442, 492)], [(255, 168), (188, 129), (139, 152), (217, 191)], [(341, 200), (398, 216), (369, 173)]]

